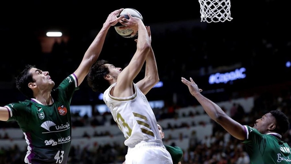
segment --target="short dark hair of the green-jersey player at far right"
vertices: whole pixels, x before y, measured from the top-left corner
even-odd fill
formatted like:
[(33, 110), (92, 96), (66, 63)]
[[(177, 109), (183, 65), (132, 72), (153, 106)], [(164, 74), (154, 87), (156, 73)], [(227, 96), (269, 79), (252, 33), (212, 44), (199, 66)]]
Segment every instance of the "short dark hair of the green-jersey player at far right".
[(276, 128), (274, 131), (284, 135), (289, 129), (289, 118), (279, 110), (273, 110), (269, 113), (276, 119)]

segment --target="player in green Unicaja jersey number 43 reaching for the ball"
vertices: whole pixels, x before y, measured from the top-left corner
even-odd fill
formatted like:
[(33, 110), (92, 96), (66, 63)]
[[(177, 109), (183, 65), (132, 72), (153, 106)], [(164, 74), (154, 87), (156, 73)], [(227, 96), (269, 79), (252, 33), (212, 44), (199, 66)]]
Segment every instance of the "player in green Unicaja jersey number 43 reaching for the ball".
[(71, 98), (99, 57), (109, 27), (123, 18), (117, 18), (122, 10), (109, 14), (77, 70), (56, 89), (53, 90), (55, 83), (48, 71), (31, 65), (26, 66), (17, 77), (17, 88), (30, 100), (0, 107), (0, 120), (17, 121), (22, 129), (28, 144), (25, 163), (67, 163), (72, 131)]

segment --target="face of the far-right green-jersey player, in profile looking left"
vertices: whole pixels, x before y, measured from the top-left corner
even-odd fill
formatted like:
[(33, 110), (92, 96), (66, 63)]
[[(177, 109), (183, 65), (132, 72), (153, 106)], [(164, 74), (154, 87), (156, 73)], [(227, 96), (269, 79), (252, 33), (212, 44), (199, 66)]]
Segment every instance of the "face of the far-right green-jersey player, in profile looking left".
[(267, 113), (262, 116), (262, 118), (255, 121), (253, 128), (257, 129), (260, 133), (265, 134), (272, 124), (275, 124), (275, 119), (271, 113)]

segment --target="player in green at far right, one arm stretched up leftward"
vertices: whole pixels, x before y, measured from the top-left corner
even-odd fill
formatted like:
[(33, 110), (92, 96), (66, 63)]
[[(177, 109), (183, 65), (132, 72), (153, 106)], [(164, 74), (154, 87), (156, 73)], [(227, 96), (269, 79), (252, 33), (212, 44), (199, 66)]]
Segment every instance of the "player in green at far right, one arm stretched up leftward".
[(224, 113), (217, 104), (200, 94), (202, 90), (192, 78), (188, 81), (182, 77), (181, 81), (188, 86), (191, 95), (214, 121), (245, 144), (251, 164), (291, 163), (291, 149), (281, 140), (289, 129), (288, 117), (283, 112), (270, 111), (256, 120), (253, 127), (243, 126)]

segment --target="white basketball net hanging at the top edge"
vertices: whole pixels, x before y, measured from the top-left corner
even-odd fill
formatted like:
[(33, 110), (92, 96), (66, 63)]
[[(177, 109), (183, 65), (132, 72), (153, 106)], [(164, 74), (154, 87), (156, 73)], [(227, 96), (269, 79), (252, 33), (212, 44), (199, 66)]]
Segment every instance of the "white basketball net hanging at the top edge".
[(230, 0), (198, 0), (200, 3), (201, 22), (230, 21)]

